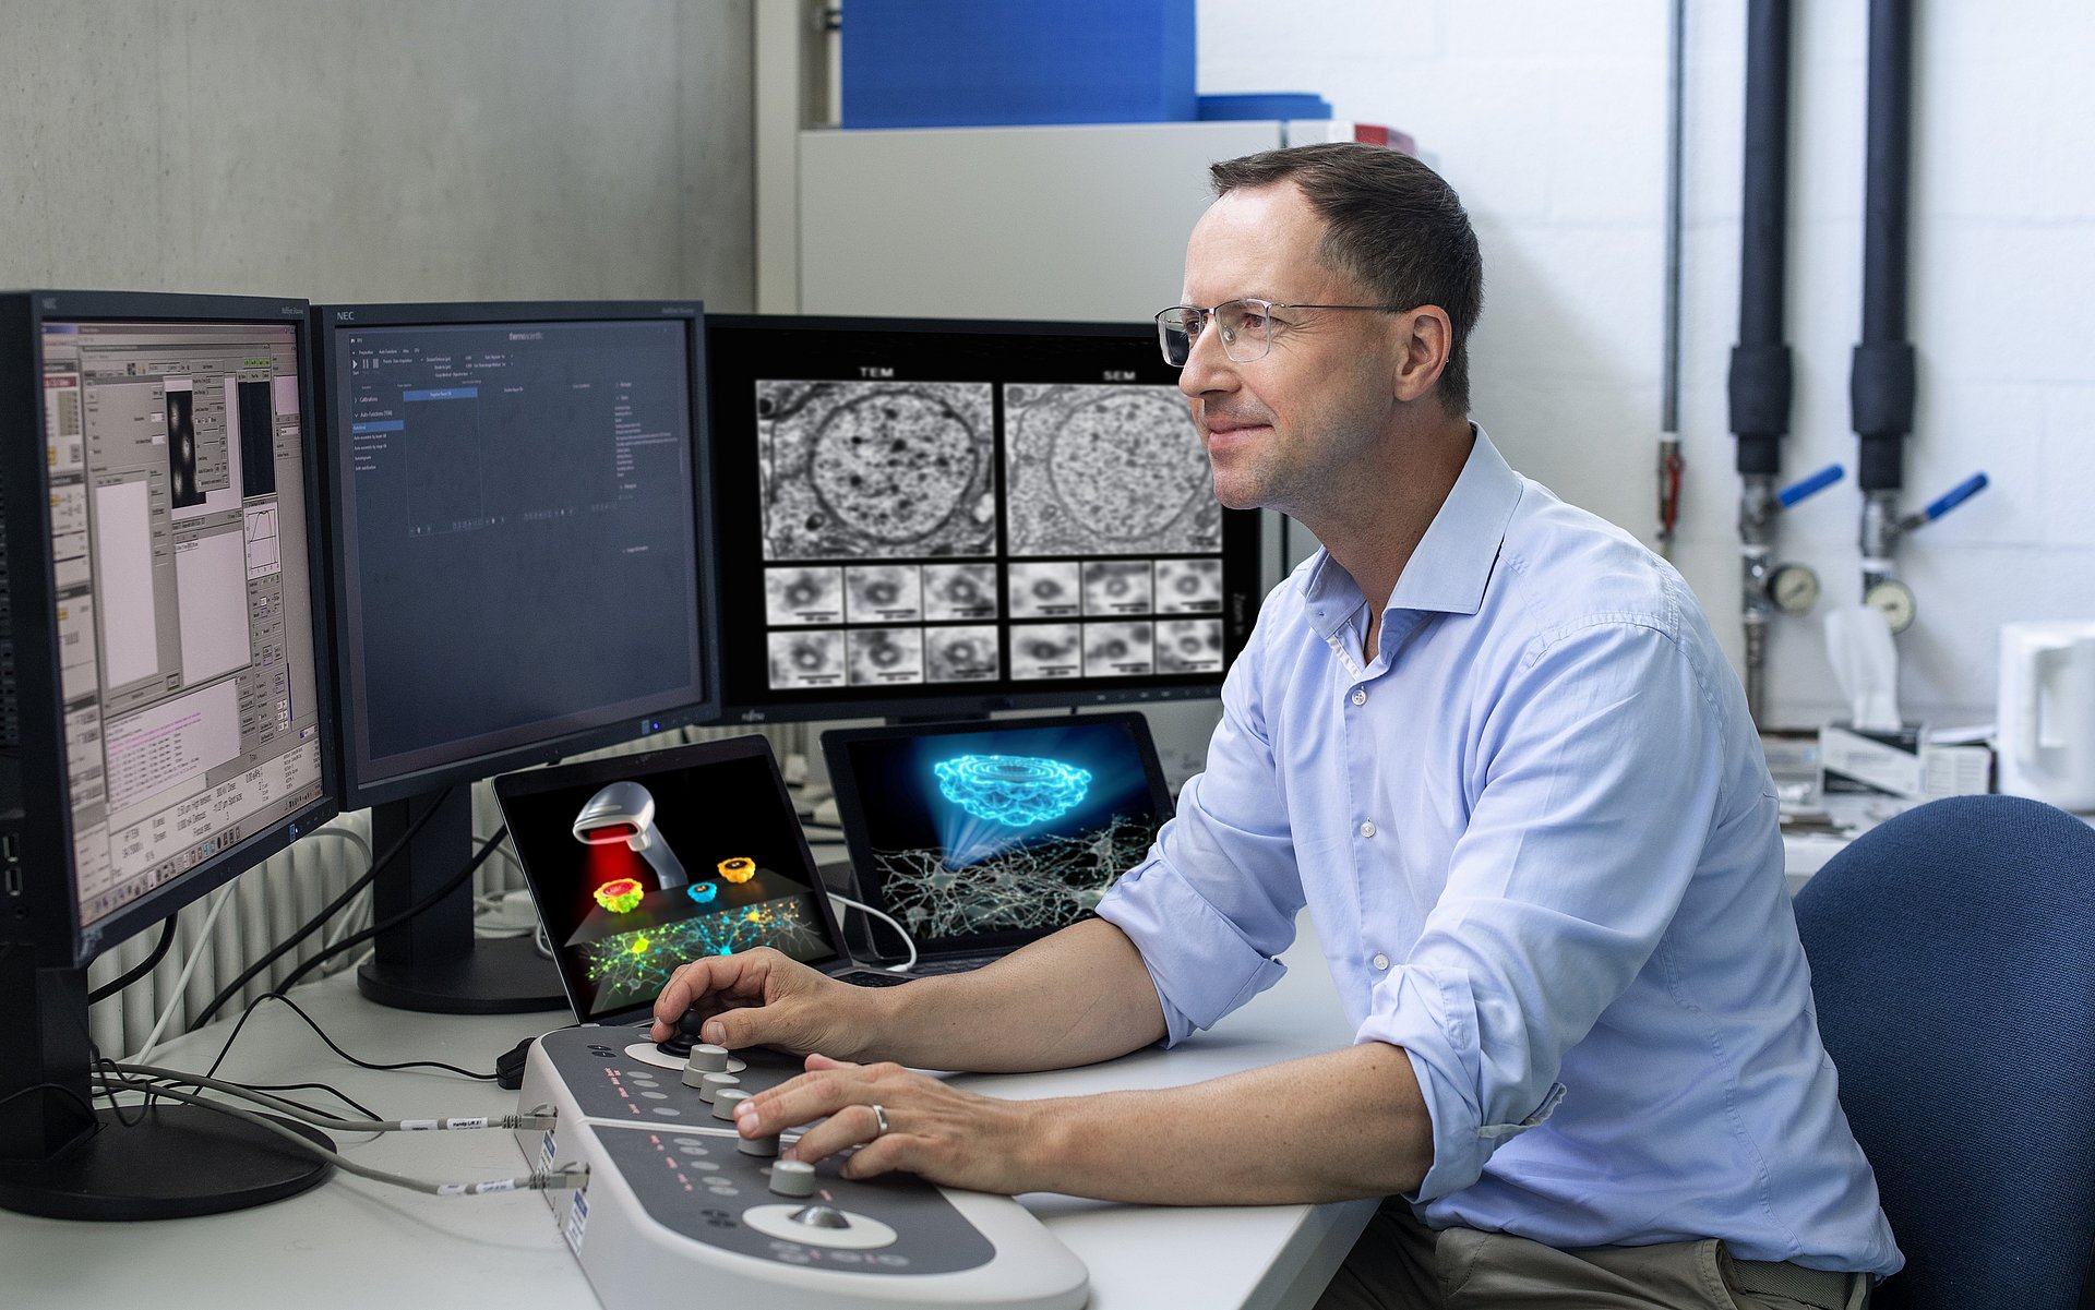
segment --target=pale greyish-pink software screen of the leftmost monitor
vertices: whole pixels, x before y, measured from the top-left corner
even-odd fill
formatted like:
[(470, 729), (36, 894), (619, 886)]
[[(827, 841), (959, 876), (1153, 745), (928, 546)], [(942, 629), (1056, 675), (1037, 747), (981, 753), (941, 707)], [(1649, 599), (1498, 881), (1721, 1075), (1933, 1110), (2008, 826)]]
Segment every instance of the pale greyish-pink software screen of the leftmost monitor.
[(321, 795), (297, 337), (46, 322), (80, 921)]

